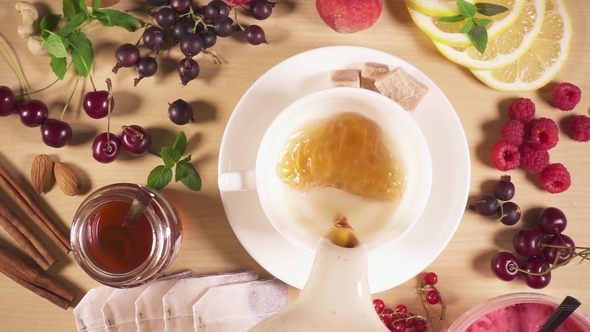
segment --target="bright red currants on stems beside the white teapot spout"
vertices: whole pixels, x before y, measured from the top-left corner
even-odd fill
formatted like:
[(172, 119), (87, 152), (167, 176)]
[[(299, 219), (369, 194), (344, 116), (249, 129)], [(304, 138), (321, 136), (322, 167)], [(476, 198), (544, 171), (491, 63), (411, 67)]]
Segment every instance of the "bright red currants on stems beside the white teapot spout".
[[(438, 276), (434, 272), (428, 272), (424, 275), (418, 285), (418, 294), (422, 301), (422, 307), (426, 312), (425, 316), (408, 311), (404, 304), (398, 304), (395, 308), (388, 308), (381, 299), (373, 300), (373, 307), (379, 315), (379, 318), (390, 331), (395, 332), (424, 332), (428, 329), (432, 331), (433, 319), (442, 320), (445, 313), (445, 303), (442, 300), (439, 290), (436, 288)], [(441, 312), (437, 317), (430, 314), (426, 305), (440, 305)]]

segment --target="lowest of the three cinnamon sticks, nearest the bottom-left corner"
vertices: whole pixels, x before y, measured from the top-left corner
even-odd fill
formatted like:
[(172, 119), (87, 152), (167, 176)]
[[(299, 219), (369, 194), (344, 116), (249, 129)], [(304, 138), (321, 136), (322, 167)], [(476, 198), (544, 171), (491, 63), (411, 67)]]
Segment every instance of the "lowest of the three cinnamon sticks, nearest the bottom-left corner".
[(75, 292), (1, 245), (0, 272), (62, 309), (67, 309), (76, 297)]

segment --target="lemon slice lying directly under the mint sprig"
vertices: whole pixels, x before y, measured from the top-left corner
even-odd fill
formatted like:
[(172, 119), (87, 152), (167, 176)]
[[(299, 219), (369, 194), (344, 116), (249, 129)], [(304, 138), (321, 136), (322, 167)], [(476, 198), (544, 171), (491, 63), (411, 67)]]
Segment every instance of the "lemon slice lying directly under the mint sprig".
[[(476, 15), (476, 17), (491, 20), (486, 28), (488, 29), (488, 40), (492, 40), (512, 26), (524, 9), (526, 0), (490, 0), (486, 2), (508, 8), (506, 12), (494, 16)], [(438, 20), (439, 16), (428, 16), (410, 7), (408, 7), (408, 11), (414, 24), (432, 40), (453, 47), (468, 47), (471, 45), (467, 34), (459, 33), (461, 27), (465, 25), (465, 21), (453, 23), (441, 22)]]

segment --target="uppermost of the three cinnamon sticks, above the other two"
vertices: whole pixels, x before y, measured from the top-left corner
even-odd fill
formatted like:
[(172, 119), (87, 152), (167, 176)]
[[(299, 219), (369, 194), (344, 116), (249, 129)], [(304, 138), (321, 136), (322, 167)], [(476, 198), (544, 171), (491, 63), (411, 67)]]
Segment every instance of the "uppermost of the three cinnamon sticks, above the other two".
[(27, 212), (27, 214), (43, 229), (64, 253), (71, 250), (68, 237), (49, 219), (41, 207), (25, 192), (22, 186), (0, 163), (0, 186), (6, 189), (8, 195)]

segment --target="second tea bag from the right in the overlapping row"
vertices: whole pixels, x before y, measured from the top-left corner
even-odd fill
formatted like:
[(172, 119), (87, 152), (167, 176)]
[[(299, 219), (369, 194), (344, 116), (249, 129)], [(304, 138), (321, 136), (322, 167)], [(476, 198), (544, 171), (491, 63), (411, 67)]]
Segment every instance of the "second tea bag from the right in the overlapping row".
[(258, 274), (250, 271), (180, 280), (162, 298), (165, 331), (192, 331), (194, 329), (192, 307), (210, 287), (252, 281), (257, 278)]

